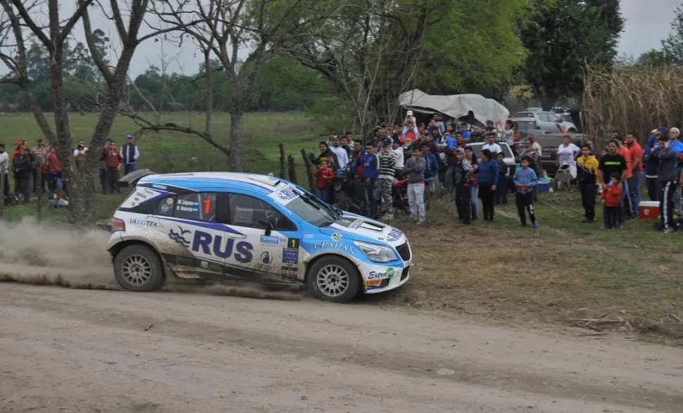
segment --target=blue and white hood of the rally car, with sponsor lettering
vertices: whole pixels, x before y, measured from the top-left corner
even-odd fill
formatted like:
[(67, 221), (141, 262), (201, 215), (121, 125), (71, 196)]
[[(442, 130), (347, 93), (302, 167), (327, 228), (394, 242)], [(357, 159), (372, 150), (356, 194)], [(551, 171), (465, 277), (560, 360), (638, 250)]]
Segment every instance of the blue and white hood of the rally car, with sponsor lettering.
[(407, 241), (406, 235), (398, 228), (383, 222), (370, 220), (360, 215), (345, 212), (344, 215), (328, 227), (320, 228), (320, 232), (329, 235), (333, 241), (352, 239), (356, 241), (388, 243), (396, 247)]

